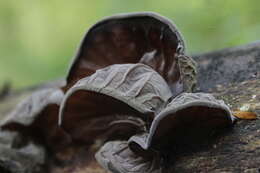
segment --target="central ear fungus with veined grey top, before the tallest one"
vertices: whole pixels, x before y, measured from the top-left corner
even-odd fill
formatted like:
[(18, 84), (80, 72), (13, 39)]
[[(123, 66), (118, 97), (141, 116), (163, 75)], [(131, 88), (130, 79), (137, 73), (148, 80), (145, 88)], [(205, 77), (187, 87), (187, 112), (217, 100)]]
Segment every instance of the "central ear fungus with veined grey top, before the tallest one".
[(112, 65), (71, 87), (61, 104), (60, 124), (77, 140), (127, 139), (144, 130), (172, 96), (164, 79), (144, 64)]

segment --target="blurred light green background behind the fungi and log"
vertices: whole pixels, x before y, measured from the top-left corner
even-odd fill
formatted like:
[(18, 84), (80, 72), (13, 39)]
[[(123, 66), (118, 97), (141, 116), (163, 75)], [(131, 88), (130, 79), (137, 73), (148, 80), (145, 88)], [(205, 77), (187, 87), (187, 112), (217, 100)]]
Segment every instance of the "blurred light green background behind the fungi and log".
[(189, 54), (260, 37), (259, 0), (0, 0), (0, 86), (65, 76), (87, 29), (122, 12), (154, 11), (181, 30)]

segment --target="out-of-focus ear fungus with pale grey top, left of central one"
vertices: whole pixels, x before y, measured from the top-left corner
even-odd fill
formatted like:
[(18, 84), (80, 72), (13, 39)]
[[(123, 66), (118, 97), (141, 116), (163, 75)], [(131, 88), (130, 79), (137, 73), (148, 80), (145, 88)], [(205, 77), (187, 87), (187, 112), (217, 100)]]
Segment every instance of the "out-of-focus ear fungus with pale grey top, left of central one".
[(69, 140), (57, 124), (63, 96), (58, 88), (35, 92), (1, 122), (1, 129), (30, 136), (34, 142), (47, 144), (52, 149), (61, 147), (62, 142)]

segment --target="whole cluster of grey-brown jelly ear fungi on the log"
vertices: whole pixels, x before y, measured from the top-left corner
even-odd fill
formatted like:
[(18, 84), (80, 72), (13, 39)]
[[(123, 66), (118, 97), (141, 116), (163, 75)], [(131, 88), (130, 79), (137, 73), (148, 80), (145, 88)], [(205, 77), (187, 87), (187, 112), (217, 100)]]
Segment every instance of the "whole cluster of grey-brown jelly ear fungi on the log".
[[(176, 26), (155, 13), (105, 18), (85, 35), (62, 88), (37, 92), (2, 123), (56, 152), (96, 145), (111, 172), (161, 172), (176, 142), (231, 126), (221, 100), (192, 93), (195, 62)], [(59, 122), (58, 122), (59, 121)]]

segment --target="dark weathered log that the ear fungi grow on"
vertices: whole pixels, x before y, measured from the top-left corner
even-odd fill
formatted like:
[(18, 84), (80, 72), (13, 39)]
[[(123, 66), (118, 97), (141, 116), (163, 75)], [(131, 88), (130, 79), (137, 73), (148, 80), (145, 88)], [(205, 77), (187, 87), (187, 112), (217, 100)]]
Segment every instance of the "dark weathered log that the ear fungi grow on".
[[(174, 153), (174, 159), (168, 164), (169, 172), (260, 172), (260, 43), (196, 55), (194, 59), (198, 62), (201, 91), (214, 93), (217, 98), (225, 100), (232, 110), (246, 107), (257, 113), (258, 119), (239, 120), (232, 129), (217, 137), (196, 146), (183, 147)], [(60, 83), (55, 85), (60, 86)], [(33, 91), (35, 89), (11, 92), (0, 100), (0, 120)], [(6, 150), (0, 149), (0, 172), (35, 172), (36, 167), (26, 167), (26, 164), (19, 171), (1, 168), (5, 157), (14, 158), (10, 162), (14, 165), (19, 159), (20, 163), (27, 162), (24, 156), (9, 153), (11, 157), (7, 156)], [(33, 164), (33, 159), (30, 159)], [(93, 165), (93, 170), (97, 168), (96, 163), (89, 165)], [(74, 168), (75, 172), (92, 172), (91, 167), (81, 167)]]

